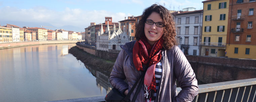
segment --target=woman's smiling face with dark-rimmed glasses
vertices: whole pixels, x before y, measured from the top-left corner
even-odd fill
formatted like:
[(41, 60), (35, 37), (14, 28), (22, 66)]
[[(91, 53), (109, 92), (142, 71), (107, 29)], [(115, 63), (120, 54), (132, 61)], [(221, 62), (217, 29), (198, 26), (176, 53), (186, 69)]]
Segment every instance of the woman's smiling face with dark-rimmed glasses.
[[(155, 23), (163, 23), (162, 17), (156, 12), (152, 12), (146, 20), (151, 20)], [(163, 27), (158, 27), (155, 23), (153, 25), (145, 23), (144, 27), (145, 36), (150, 45), (153, 45), (163, 35)]]

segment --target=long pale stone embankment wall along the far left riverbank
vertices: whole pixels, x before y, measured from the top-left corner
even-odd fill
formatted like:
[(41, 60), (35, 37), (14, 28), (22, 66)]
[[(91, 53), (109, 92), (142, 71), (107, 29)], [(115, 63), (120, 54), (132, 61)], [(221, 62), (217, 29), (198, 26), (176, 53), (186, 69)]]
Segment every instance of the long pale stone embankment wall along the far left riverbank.
[(78, 40), (63, 40), (63, 41), (26, 41), (26, 42), (11, 42), (11, 43), (0, 43), (0, 49), (22, 47), (30, 45), (41, 45), (41, 44), (59, 44), (59, 43), (76, 43)]

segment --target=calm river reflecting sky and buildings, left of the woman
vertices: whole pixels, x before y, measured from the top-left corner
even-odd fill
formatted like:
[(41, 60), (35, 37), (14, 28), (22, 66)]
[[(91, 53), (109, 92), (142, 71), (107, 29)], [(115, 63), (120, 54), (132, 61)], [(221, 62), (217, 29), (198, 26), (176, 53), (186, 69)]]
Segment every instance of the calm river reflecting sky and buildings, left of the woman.
[(109, 75), (78, 61), (75, 44), (0, 49), (0, 102), (42, 102), (106, 95)]

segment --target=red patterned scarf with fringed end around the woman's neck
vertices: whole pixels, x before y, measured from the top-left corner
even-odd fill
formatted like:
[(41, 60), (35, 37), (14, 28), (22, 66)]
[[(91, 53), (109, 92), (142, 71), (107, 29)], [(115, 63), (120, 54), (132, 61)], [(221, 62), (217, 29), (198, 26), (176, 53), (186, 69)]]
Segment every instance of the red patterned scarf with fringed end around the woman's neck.
[[(133, 47), (133, 63), (138, 71), (143, 71), (142, 65), (148, 66), (144, 78), (145, 97), (149, 99), (156, 92), (155, 66), (161, 60), (162, 37), (151, 46), (147, 38), (141, 38)], [(153, 92), (152, 92), (153, 90)]]

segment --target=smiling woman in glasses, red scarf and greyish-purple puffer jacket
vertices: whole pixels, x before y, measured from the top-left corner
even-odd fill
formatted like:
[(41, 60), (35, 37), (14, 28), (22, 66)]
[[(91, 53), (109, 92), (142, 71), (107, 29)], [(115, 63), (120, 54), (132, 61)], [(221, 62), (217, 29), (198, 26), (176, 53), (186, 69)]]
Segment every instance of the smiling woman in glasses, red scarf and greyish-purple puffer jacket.
[[(197, 80), (183, 52), (176, 46), (175, 36), (169, 10), (156, 4), (146, 8), (136, 25), (136, 41), (121, 46), (110, 74), (111, 85), (126, 95), (146, 71), (136, 102), (191, 102), (198, 94)], [(176, 80), (182, 88), (179, 94)]]

